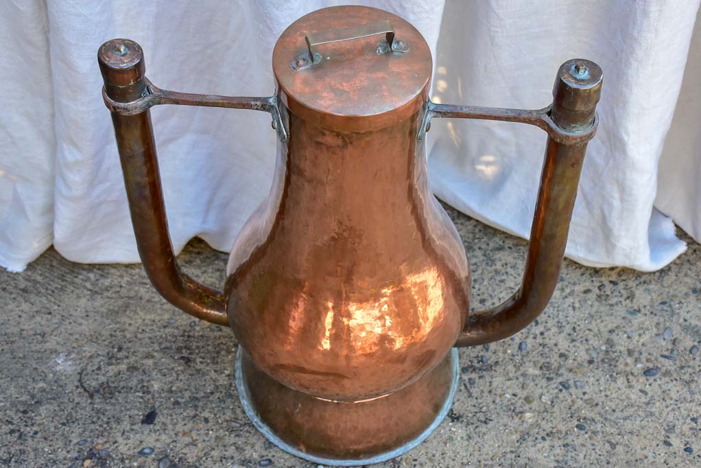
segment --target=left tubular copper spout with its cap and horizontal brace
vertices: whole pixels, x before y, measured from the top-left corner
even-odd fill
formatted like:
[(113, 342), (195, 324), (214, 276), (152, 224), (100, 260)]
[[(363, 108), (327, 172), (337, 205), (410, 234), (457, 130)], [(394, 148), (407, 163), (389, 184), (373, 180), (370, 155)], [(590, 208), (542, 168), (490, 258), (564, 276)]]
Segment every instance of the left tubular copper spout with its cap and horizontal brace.
[[(257, 109), (270, 111), (273, 122), (277, 122), (277, 106), (269, 97), (189, 95), (159, 90), (144, 75), (142, 48), (128, 39), (102, 44), (97, 62), (114, 123), (139, 256), (149, 280), (163, 297), (184, 312), (228, 325), (222, 292), (182, 273), (173, 254), (149, 108), (155, 104), (185, 104)], [(278, 135), (283, 135), (281, 139), (286, 138), (284, 125), (278, 123), (277, 129)]]

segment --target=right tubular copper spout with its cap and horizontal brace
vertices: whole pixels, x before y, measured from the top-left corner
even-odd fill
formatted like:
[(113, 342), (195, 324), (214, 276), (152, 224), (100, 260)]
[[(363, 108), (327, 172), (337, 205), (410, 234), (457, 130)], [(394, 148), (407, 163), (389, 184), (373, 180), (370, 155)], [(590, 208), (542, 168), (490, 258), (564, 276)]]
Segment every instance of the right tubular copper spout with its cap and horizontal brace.
[[(569, 60), (560, 67), (547, 113), (434, 105), (434, 117), (493, 118), (531, 123), (548, 130), (538, 200), (521, 287), (501, 305), (468, 314), (456, 346), (507, 338), (533, 322), (554, 292), (564, 257), (569, 223), (587, 142), (596, 131), (601, 68), (589, 60)], [(441, 112), (444, 115), (441, 115)], [(506, 116), (505, 114), (509, 114)], [(544, 119), (550, 122), (542, 125)], [(554, 125), (554, 128), (553, 128)]]

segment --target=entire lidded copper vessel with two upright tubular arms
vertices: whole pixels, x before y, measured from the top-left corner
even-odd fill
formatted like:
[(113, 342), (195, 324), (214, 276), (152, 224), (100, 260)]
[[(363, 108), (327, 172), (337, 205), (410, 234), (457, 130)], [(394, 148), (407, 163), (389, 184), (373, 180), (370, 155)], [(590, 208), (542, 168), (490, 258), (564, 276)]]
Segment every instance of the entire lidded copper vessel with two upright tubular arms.
[[(550, 300), (597, 128), (597, 64), (565, 62), (543, 109), (435, 104), (421, 34), (363, 6), (324, 8), (290, 25), (273, 51), (271, 97), (157, 88), (128, 39), (104, 43), (98, 61), (144, 268), (168, 301), (231, 326), (243, 408), (280, 448), (323, 464), (400, 455), (449, 411), (455, 347), (510, 336)], [(149, 115), (156, 104), (272, 115), (271, 193), (233, 246), (224, 291), (175, 261)], [(470, 311), (463, 244), (428, 187), (423, 137), (432, 118), (527, 123), (548, 134), (523, 282), (490, 310)]]

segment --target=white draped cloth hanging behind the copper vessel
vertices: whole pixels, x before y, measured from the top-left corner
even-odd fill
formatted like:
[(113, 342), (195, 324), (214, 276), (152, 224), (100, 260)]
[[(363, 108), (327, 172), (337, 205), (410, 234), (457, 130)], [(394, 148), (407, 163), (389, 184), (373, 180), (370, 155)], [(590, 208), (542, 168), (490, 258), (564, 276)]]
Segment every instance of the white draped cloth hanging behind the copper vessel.
[[(699, 0), (353, 3), (392, 11), (426, 37), (435, 102), (537, 109), (552, 100), (559, 64), (581, 57), (601, 65), (601, 123), (583, 168), (569, 258), (656, 270), (686, 248), (674, 223), (701, 240)], [(279, 34), (336, 4), (0, 1), (0, 266), (20, 271), (52, 243), (71, 261), (139, 261), (100, 95), (101, 43), (139, 42), (147, 75), (161, 88), (271, 95)], [(159, 106), (152, 116), (175, 250), (194, 236), (229, 250), (271, 184), (268, 114)], [(437, 119), (427, 145), (439, 198), (529, 235), (541, 130)]]

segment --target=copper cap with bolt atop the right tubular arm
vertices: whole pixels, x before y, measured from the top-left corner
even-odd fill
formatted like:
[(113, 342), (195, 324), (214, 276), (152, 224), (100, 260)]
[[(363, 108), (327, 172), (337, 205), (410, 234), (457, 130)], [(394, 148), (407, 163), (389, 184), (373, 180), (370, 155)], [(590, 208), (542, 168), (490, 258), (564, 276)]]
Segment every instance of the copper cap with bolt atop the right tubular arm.
[(601, 67), (591, 60), (564, 62), (552, 88), (552, 120), (564, 130), (589, 128), (594, 121), (603, 80)]

